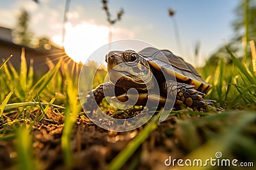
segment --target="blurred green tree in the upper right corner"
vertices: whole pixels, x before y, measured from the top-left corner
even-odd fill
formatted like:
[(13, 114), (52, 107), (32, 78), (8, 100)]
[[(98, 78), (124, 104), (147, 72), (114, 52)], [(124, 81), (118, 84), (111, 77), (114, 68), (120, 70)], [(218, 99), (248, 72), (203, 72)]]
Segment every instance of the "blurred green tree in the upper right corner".
[[(234, 36), (227, 42), (227, 45), (232, 52), (237, 53), (237, 56), (243, 58), (243, 61), (246, 62), (248, 56), (250, 56), (250, 53), (248, 52), (248, 41), (256, 39), (256, 1), (241, 1), (235, 10), (235, 13), (236, 18), (232, 22)], [(242, 46), (242, 44), (244, 46)], [(211, 62), (208, 63), (216, 64), (220, 58), (226, 58), (228, 61), (229, 56), (230, 55), (223, 45), (211, 55), (209, 59)]]

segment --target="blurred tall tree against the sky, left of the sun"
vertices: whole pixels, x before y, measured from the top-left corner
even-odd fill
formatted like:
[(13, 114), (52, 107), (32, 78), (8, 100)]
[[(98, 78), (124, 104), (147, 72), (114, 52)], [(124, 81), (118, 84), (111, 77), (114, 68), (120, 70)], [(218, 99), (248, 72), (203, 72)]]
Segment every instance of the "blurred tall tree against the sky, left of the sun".
[(15, 42), (20, 45), (31, 46), (31, 39), (33, 33), (29, 31), (29, 13), (26, 10), (22, 10), (18, 18), (17, 25), (13, 31)]

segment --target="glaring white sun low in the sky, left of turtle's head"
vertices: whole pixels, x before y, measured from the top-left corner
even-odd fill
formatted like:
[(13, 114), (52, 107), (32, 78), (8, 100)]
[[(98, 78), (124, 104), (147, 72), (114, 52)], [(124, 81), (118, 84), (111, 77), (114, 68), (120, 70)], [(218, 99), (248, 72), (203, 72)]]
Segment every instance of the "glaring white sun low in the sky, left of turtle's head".
[(63, 46), (68, 57), (75, 62), (86, 62), (90, 55), (108, 43), (109, 29), (103, 25), (84, 22), (72, 26), (66, 25), (66, 36)]

